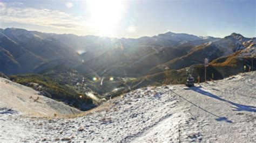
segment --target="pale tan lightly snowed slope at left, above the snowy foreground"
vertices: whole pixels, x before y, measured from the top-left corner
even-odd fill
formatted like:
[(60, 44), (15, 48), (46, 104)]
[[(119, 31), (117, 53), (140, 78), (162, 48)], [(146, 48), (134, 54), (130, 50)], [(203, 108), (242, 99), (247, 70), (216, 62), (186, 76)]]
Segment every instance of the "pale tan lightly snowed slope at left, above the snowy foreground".
[(2, 116), (14, 110), (24, 116), (32, 117), (53, 117), (80, 113), (79, 110), (62, 102), (42, 96), (40, 92), (32, 88), (2, 77), (0, 77), (0, 90), (0, 112)]

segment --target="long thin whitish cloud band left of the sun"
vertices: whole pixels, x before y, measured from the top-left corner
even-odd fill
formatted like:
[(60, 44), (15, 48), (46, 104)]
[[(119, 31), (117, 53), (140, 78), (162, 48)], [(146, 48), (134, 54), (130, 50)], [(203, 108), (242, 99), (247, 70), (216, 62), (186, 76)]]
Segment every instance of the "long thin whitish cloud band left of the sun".
[(76, 17), (58, 10), (18, 8), (3, 2), (0, 2), (0, 19), (5, 23), (33, 24), (68, 30), (93, 28), (84, 17)]

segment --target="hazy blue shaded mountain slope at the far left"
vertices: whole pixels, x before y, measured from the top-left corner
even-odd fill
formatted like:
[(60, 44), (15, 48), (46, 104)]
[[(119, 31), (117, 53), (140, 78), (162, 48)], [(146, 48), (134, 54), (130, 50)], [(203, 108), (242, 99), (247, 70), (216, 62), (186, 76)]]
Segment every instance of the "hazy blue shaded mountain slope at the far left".
[[(38, 68), (43, 70), (41, 65), (55, 63), (59, 65), (63, 62), (70, 63), (69, 66), (80, 61), (79, 55), (69, 46), (56, 39), (51, 38), (52, 34), (32, 32), (19, 28), (5, 28), (0, 30), (0, 46), (9, 52), (10, 56), (17, 61), (19, 66), (9, 65), (0, 67), (4, 74), (24, 74), (35, 73)], [(0, 51), (2, 53), (2, 50)], [(5, 52), (6, 53), (6, 52)], [(9, 56), (9, 57), (10, 57)], [(4, 58), (3, 63), (8, 59)], [(5, 63), (7, 64), (7, 63)]]

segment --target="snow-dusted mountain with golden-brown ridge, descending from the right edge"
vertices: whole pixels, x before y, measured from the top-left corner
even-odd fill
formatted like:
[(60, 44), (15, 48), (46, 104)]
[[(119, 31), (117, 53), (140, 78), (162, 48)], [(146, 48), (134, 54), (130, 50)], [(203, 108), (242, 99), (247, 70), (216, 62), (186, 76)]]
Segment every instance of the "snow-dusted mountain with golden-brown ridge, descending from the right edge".
[(231, 55), (237, 51), (250, 47), (250, 44), (255, 44), (255, 42), (255, 38), (245, 38), (241, 34), (232, 33), (225, 38), (195, 46), (191, 48), (186, 55), (152, 68), (150, 73), (163, 71), (163, 65), (168, 66), (170, 69), (181, 69), (195, 64), (203, 64), (205, 58), (212, 61), (217, 58)]

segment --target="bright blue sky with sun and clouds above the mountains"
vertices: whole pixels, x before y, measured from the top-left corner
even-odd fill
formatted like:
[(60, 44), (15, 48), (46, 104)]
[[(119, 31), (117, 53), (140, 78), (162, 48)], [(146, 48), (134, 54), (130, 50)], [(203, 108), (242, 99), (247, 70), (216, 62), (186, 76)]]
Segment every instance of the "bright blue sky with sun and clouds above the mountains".
[(168, 31), (256, 37), (255, 0), (0, 0), (0, 28), (139, 38)]

